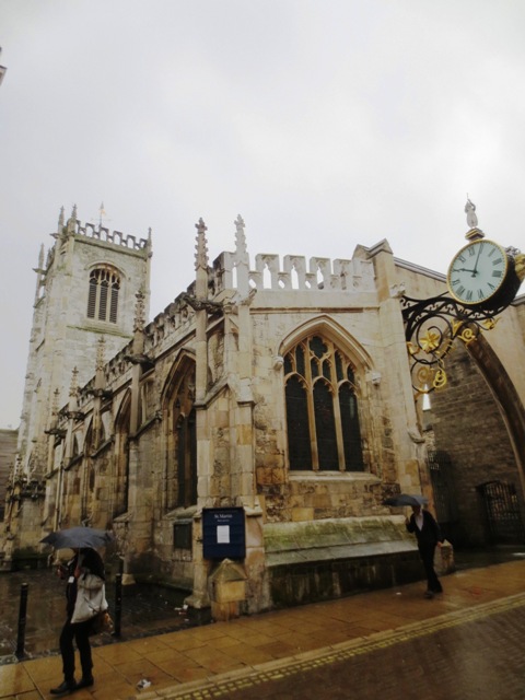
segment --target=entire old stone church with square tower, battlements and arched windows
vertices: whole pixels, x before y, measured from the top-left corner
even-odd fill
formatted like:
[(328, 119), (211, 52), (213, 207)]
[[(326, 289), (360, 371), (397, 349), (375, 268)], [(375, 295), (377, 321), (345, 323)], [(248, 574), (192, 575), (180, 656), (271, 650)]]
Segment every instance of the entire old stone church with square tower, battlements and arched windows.
[(458, 544), (492, 541), (494, 518), (504, 541), (509, 509), (523, 541), (524, 298), (455, 341), (429, 410), (402, 300), (443, 294), (443, 275), (386, 241), (250, 259), (241, 217), (210, 261), (196, 229), (192, 281), (148, 322), (151, 235), (61, 213), (36, 270), (4, 570), (49, 553), (54, 529), (108, 528), (126, 582), (228, 617), (420, 578), (402, 511), (383, 504), (399, 492), (423, 492)]

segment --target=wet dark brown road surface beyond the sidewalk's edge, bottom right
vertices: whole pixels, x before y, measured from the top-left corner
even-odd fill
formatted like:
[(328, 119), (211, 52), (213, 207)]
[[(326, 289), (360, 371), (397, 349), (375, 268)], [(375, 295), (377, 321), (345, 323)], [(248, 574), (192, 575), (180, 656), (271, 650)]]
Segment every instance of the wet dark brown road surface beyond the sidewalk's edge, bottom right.
[(174, 689), (165, 700), (523, 700), (525, 594), (443, 618), (280, 668)]

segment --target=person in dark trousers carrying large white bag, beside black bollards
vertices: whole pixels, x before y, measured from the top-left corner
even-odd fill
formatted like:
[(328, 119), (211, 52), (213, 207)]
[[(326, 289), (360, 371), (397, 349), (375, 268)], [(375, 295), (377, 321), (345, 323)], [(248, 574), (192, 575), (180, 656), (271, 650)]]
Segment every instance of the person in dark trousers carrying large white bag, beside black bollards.
[[(93, 660), (90, 634), (97, 612), (107, 609), (105, 573), (101, 556), (91, 547), (73, 549), (74, 557), (58, 569), (66, 586), (66, 623), (60, 633), (63, 681), (51, 688), (51, 695), (65, 696), (93, 685)], [(74, 648), (80, 654), (82, 678), (74, 679)]]

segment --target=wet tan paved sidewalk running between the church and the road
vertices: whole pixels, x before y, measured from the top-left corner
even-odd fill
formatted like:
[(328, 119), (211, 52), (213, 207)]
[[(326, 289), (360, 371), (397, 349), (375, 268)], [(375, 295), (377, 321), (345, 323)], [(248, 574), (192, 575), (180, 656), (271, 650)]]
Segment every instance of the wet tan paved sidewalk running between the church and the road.
[[(93, 650), (95, 684), (73, 697), (242, 697), (243, 687), (253, 687), (257, 678), (271, 680), (525, 606), (523, 559), (460, 571), (442, 581), (444, 593), (433, 600), (423, 598), (420, 582), (98, 646)], [(59, 656), (0, 666), (0, 698), (47, 700), (60, 681)]]

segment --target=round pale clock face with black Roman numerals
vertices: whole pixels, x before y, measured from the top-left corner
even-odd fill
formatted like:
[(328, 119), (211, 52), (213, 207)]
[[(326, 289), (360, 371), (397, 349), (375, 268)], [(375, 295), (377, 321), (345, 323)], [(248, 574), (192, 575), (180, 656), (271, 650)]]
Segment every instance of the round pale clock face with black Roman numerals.
[(454, 257), (446, 280), (451, 294), (464, 304), (482, 304), (503, 285), (509, 259), (492, 241), (474, 241)]

